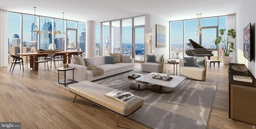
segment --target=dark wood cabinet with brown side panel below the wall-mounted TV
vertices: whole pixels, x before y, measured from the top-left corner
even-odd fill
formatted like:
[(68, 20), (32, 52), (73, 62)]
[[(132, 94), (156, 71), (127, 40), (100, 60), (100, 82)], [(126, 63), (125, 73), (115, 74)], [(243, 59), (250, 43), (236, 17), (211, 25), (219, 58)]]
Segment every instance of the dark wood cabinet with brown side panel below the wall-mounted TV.
[[(244, 64), (229, 65), (229, 87), (228, 87), (228, 113), (229, 118), (256, 125), (256, 83), (255, 77), (248, 70), (238, 72), (231, 66), (245, 66)], [(233, 80), (233, 75), (250, 76), (251, 82)]]

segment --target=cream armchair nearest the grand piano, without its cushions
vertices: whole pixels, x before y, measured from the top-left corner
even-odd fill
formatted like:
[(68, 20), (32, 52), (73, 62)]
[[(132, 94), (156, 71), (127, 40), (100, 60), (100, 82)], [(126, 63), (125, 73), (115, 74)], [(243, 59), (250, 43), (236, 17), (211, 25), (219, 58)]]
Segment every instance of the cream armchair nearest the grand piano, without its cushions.
[[(193, 65), (191, 66), (184, 66), (184, 59), (179, 61), (180, 64), (180, 76), (184, 76), (188, 79), (194, 80), (205, 80), (206, 77), (206, 66), (207, 62), (204, 60), (204, 63), (201, 63), (201, 66), (198, 66), (198, 62), (196, 58), (204, 58), (205, 57), (193, 57)], [(202, 61), (202, 60), (201, 60)]]

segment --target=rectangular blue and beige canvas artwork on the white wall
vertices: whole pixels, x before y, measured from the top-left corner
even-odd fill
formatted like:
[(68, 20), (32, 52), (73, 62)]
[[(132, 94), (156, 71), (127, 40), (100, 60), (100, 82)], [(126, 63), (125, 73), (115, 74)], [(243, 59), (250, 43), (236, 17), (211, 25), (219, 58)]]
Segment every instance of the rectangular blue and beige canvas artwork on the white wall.
[(166, 27), (156, 25), (156, 47), (166, 47)]

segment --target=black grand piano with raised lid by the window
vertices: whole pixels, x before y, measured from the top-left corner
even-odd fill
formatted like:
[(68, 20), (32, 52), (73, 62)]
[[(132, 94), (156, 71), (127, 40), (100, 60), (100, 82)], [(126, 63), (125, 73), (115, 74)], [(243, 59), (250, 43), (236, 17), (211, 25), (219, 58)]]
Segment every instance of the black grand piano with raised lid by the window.
[(202, 47), (200, 44), (196, 43), (192, 39), (188, 39), (190, 43), (187, 43), (189, 49), (186, 50), (186, 55), (194, 56), (194, 57), (205, 57), (207, 56), (210, 60), (210, 57), (213, 56), (212, 51), (207, 50), (206, 48)]

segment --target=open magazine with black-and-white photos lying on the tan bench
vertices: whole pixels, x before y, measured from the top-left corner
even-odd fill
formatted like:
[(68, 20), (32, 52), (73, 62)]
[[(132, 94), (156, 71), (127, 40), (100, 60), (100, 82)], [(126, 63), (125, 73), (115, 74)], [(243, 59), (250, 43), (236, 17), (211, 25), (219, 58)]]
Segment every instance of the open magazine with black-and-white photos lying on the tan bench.
[(138, 98), (138, 96), (136, 96), (136, 95), (134, 95), (130, 92), (126, 92), (124, 90), (114, 90), (112, 92), (109, 92), (109, 93), (105, 94), (105, 96), (108, 96), (110, 98), (114, 98), (115, 100), (118, 100), (118, 101), (123, 102), (125, 104), (128, 104), (132, 100)]

